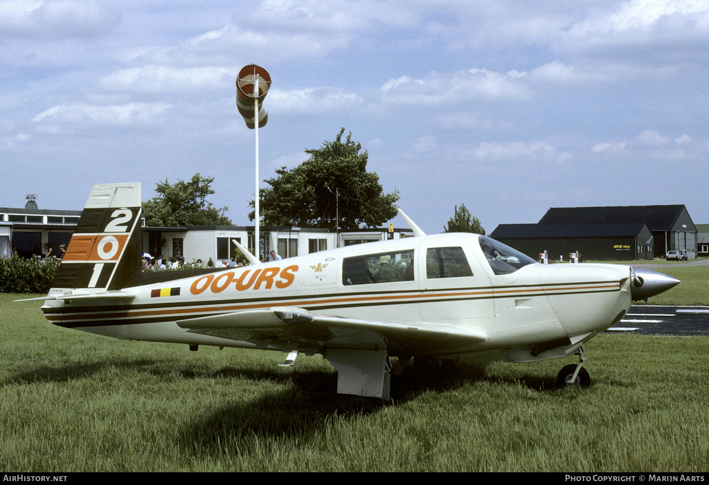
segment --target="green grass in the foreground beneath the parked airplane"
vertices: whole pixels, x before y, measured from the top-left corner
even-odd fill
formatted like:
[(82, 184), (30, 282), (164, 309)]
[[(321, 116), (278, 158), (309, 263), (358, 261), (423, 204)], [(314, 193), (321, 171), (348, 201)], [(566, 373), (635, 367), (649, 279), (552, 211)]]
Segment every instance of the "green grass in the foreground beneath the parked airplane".
[(0, 294), (0, 469), (683, 471), (709, 463), (709, 338), (601, 335), (577, 358), (408, 368), (392, 400), (338, 396), (319, 356), (130, 343)]

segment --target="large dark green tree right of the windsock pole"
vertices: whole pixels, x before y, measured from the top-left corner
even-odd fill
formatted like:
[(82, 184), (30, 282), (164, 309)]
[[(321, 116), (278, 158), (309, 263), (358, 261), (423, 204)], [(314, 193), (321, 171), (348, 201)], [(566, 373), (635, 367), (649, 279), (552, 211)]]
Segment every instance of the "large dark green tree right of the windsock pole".
[(379, 176), (367, 172), (367, 151), (359, 152), (352, 132), (342, 142), (344, 132), (306, 150), (310, 158), (295, 169), (281, 167), (266, 181), (270, 187), (260, 190), (264, 225), (354, 229), (379, 227), (396, 216), (398, 191), (382, 194)]

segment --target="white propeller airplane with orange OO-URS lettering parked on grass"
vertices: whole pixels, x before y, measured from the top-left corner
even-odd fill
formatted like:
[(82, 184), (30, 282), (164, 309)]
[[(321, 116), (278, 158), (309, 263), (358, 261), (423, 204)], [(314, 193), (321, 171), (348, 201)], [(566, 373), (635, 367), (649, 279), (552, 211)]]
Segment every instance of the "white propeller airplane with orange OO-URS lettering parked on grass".
[[(579, 355), (634, 300), (679, 280), (610, 264), (543, 265), (478, 234), (358, 244), (243, 268), (143, 272), (140, 184), (94, 186), (42, 307), (52, 324), (134, 341), (320, 353), (337, 392), (389, 399), (415, 359), (498, 350), (511, 362)], [(403, 213), (402, 213), (403, 214)], [(235, 244), (238, 244), (234, 241)], [(389, 357), (398, 357), (392, 368)]]

